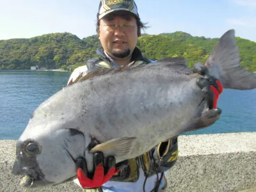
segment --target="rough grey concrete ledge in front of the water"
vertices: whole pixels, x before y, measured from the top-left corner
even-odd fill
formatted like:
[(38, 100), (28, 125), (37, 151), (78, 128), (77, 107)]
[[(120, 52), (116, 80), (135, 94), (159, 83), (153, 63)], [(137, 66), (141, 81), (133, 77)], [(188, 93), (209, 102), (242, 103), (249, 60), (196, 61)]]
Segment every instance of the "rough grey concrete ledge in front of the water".
[[(24, 191), (11, 174), (14, 140), (0, 140), (0, 191)], [(166, 191), (256, 191), (256, 132), (179, 136)], [(27, 191), (81, 191), (73, 182)]]

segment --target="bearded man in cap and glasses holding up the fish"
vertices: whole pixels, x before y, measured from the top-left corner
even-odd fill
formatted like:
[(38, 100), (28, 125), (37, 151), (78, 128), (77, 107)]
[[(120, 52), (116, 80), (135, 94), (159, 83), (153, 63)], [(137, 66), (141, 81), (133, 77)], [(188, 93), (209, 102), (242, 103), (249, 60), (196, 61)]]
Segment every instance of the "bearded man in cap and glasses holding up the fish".
[[(97, 33), (102, 47), (97, 49), (99, 58), (88, 60), (87, 64), (76, 68), (68, 85), (76, 83), (82, 76), (89, 76), (90, 72), (101, 68), (136, 67), (151, 61), (144, 58), (141, 51), (136, 47), (141, 29), (145, 28), (140, 20), (137, 6), (133, 0), (108, 1), (102, 0), (97, 14)], [(84, 159), (80, 159), (77, 168), (83, 168), (86, 172), (84, 179), (79, 178), (79, 183), (86, 188), (97, 188), (99, 191), (158, 191), (166, 188), (166, 170), (170, 169), (177, 161), (178, 143), (177, 138), (159, 143), (149, 152), (140, 157), (129, 159), (115, 164), (115, 158), (111, 160), (111, 166), (106, 166), (105, 173), (115, 166), (118, 173), (111, 174), (111, 179), (106, 183), (84, 182), (85, 177), (90, 179), (99, 176), (97, 167), (104, 164), (102, 154), (95, 154), (96, 170), (88, 173)], [(78, 162), (78, 161), (77, 161)], [(110, 162), (110, 160), (109, 160)], [(78, 163), (78, 164), (79, 164)], [(113, 175), (114, 174), (114, 175)], [(99, 180), (99, 179), (98, 179)], [(108, 180), (108, 179), (107, 179)], [(78, 183), (78, 184), (79, 184)], [(90, 183), (90, 184), (88, 184)]]

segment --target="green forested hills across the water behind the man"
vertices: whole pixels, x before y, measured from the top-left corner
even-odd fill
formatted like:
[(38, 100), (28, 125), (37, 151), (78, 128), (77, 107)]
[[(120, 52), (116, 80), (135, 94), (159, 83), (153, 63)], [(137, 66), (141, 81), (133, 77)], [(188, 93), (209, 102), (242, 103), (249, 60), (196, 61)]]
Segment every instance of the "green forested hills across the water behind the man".
[[(204, 62), (211, 54), (219, 38), (191, 36), (177, 31), (159, 35), (142, 35), (138, 47), (150, 60), (167, 57), (184, 57), (192, 66)], [(251, 72), (256, 71), (256, 43), (237, 37), (241, 65)], [(70, 33), (52, 33), (33, 38), (0, 40), (1, 69), (76, 68), (96, 56), (100, 46), (96, 35), (81, 40)]]

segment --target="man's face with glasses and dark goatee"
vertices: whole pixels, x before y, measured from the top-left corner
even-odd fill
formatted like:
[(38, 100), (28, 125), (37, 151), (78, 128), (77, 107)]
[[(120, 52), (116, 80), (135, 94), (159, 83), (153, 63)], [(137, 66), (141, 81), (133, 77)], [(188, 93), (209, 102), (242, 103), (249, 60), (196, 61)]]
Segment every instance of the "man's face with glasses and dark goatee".
[[(120, 24), (124, 27), (121, 28)], [(100, 19), (99, 39), (104, 51), (111, 58), (122, 59), (131, 56), (138, 40), (136, 19), (127, 12), (106, 15)]]

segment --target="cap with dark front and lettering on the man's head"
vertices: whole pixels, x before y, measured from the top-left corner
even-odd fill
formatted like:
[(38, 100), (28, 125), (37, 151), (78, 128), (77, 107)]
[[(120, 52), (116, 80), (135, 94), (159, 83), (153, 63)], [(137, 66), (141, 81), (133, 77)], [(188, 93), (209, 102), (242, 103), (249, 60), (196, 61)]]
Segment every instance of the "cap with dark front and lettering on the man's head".
[(99, 19), (116, 11), (127, 11), (135, 17), (140, 17), (134, 0), (101, 0), (99, 5)]

